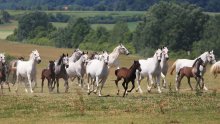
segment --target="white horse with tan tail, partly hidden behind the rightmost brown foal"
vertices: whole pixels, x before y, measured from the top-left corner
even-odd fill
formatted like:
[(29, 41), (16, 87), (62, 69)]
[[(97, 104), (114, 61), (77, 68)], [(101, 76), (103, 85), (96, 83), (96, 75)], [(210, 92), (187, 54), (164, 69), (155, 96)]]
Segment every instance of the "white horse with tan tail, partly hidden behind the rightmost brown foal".
[[(208, 63), (215, 63), (216, 62), (216, 60), (215, 60), (215, 55), (214, 55), (214, 53), (213, 53), (213, 50), (212, 51), (208, 51), (208, 52), (204, 52), (203, 54), (201, 54), (199, 57), (197, 57), (197, 58), (201, 58), (202, 60), (203, 60), (203, 62), (204, 62), (204, 67), (206, 67), (206, 65), (208, 64)], [(197, 59), (196, 58), (196, 59)], [(194, 60), (189, 60), (189, 59), (177, 59), (174, 63), (173, 63), (173, 65), (172, 65), (172, 67), (171, 67), (171, 72), (170, 72), (170, 74), (172, 75), (172, 73), (173, 73), (173, 71), (174, 71), (174, 69), (176, 69), (176, 78), (175, 78), (175, 82), (176, 82), (176, 90), (178, 91), (178, 88), (177, 88), (177, 78), (178, 78), (178, 72), (179, 72), (179, 70), (181, 69), (181, 68), (183, 68), (183, 67), (192, 67), (193, 66), (193, 63), (195, 62), (195, 60), (196, 59), (194, 59)], [(204, 73), (206, 72), (206, 68), (204, 68), (203, 69), (203, 67), (200, 67), (201, 69), (200, 70), (203, 70), (203, 75), (204, 75)], [(204, 84), (204, 88), (203, 88), (204, 90), (208, 90), (208, 88), (205, 86), (205, 84)]]

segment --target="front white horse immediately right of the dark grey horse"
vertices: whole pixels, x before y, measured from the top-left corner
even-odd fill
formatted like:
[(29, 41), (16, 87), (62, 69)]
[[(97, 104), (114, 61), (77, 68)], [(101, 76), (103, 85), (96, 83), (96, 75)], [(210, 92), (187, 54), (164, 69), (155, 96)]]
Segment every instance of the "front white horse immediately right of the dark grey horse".
[(88, 53), (83, 53), (79, 60), (76, 62), (69, 61), (69, 67), (66, 69), (66, 72), (69, 78), (78, 79), (78, 84), (83, 87), (83, 77), (85, 74), (85, 62), (88, 60)]

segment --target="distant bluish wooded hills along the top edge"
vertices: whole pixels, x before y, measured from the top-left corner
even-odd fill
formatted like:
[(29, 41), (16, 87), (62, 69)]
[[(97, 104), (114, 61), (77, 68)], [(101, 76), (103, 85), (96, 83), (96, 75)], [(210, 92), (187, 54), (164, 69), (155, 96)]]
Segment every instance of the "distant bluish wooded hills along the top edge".
[[(0, 9), (14, 10), (95, 10), (146, 11), (161, 0), (0, 0)], [(174, 1), (174, 0), (163, 0)], [(219, 0), (175, 0), (202, 7), (205, 11), (220, 12)]]

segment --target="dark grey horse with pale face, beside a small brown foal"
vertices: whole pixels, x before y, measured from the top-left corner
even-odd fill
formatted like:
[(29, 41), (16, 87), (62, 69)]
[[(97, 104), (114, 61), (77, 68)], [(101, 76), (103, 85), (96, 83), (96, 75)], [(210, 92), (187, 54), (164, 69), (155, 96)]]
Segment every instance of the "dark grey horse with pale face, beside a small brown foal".
[[(66, 72), (66, 68), (69, 67), (69, 59), (68, 59), (68, 54), (65, 55), (63, 54), (60, 56), (58, 61), (55, 61), (55, 77), (57, 83), (57, 93), (59, 93), (59, 79), (63, 78), (65, 81), (65, 92), (68, 92), (69, 89), (69, 84), (68, 84), (68, 75)], [(55, 84), (54, 84), (55, 85)]]

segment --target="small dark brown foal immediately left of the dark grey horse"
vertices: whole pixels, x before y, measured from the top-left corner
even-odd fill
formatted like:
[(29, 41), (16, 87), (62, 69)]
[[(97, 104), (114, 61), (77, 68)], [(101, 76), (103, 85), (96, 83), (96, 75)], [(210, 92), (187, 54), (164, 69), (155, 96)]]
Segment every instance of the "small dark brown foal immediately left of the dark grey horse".
[(49, 92), (51, 92), (53, 82), (55, 82), (55, 63), (54, 63), (54, 61), (49, 61), (49, 67), (46, 69), (43, 69), (41, 72), (41, 79), (42, 79), (41, 92), (43, 92), (45, 78), (48, 81)]

